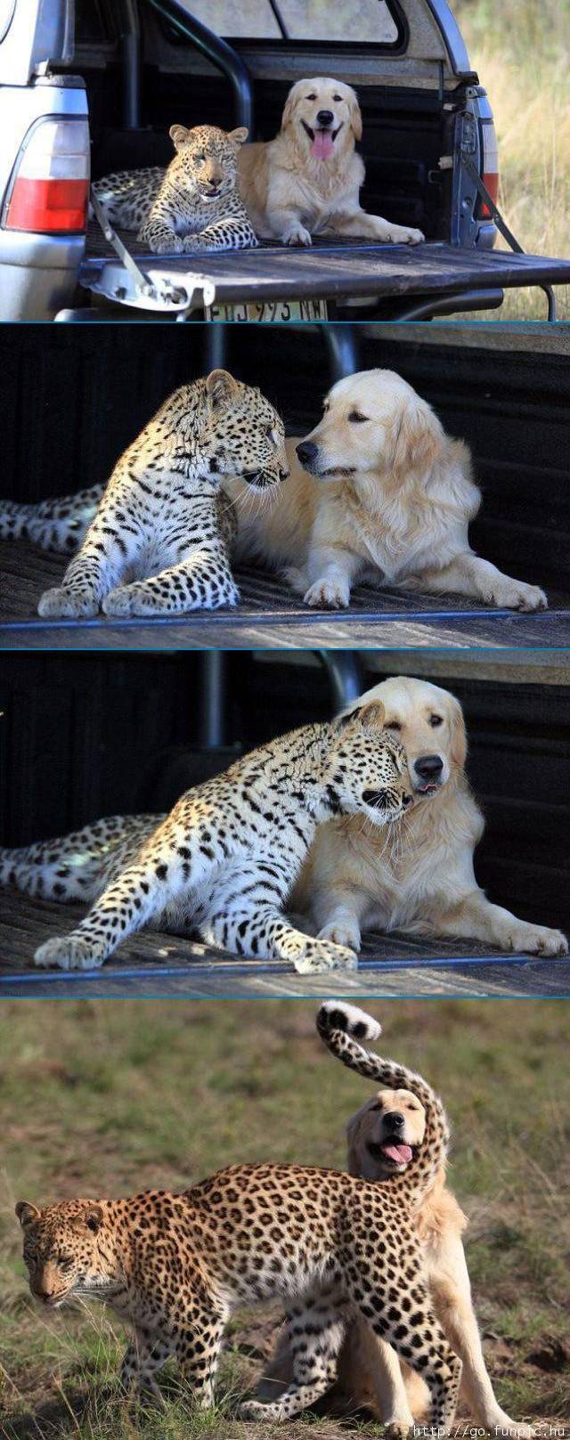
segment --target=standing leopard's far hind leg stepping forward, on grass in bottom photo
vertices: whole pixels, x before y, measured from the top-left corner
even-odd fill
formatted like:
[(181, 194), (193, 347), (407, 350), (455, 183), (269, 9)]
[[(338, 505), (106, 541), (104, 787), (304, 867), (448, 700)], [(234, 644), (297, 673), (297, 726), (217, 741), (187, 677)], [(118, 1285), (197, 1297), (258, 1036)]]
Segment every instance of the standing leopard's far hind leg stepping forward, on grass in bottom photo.
[[(343, 1313), (344, 1312), (344, 1313)], [(294, 1365), (294, 1380), (278, 1400), (263, 1404), (246, 1400), (239, 1407), (240, 1420), (282, 1423), (301, 1414), (327, 1394), (337, 1378), (337, 1359), (345, 1332), (345, 1306), (325, 1295), (307, 1297), (289, 1308), (286, 1336)]]

